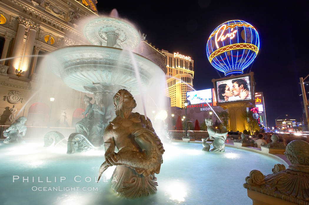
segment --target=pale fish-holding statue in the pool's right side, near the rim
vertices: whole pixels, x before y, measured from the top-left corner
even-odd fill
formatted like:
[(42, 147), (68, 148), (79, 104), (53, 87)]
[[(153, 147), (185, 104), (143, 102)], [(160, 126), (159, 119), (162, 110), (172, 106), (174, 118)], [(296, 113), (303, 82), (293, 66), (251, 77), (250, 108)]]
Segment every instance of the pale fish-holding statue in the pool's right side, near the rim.
[[(209, 134), (209, 138), (211, 140), (214, 140), (210, 144), (210, 145), (214, 146), (214, 148), (210, 151), (224, 152), (225, 151), (225, 144), (224, 143), (225, 143), (225, 140), (226, 140), (226, 137), (227, 137), (226, 127), (223, 126), (221, 131), (218, 130), (218, 129), (215, 129), (214, 126), (213, 126), (214, 125), (213, 121), (210, 118), (206, 118), (205, 123), (207, 125), (207, 131), (208, 131), (208, 134)], [(202, 141), (203, 141), (203, 146), (204, 146), (204, 141), (206, 142), (207, 138), (203, 138), (203, 139), (202, 139)], [(207, 146), (207, 145), (205, 144), (205, 146)], [(205, 148), (208, 149), (208, 147), (205, 147)]]

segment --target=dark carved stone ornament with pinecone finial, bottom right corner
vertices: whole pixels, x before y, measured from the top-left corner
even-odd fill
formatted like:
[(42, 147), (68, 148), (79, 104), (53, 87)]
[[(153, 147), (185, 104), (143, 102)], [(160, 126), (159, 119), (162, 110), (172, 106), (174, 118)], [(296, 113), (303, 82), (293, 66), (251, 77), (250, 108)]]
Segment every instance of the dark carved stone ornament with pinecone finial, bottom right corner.
[[(277, 198), (277, 204), (284, 204), (284, 201), (309, 204), (309, 144), (302, 140), (291, 141), (286, 146), (285, 155), (292, 163), (288, 169), (276, 164), (273, 174), (266, 176), (258, 170), (252, 170), (243, 187)], [(252, 200), (261, 199), (252, 196)]]

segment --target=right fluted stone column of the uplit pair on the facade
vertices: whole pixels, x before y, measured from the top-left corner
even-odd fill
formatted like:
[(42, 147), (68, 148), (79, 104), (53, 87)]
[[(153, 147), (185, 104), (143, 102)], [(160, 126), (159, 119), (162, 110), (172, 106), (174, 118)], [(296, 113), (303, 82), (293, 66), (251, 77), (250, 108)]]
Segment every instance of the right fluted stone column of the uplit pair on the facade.
[(28, 77), (29, 75), (29, 70), (30, 70), (30, 63), (31, 63), (31, 58), (32, 52), (33, 52), (33, 47), (34, 47), (34, 40), (36, 38), (36, 31), (40, 28), (40, 25), (30, 22), (30, 29), (29, 29), (29, 34), (28, 34), (28, 39), (26, 42), (25, 46), (25, 51), (24, 51), (24, 56), (23, 56), (23, 62), (20, 67), (21, 70), (25, 71), (25, 77)]

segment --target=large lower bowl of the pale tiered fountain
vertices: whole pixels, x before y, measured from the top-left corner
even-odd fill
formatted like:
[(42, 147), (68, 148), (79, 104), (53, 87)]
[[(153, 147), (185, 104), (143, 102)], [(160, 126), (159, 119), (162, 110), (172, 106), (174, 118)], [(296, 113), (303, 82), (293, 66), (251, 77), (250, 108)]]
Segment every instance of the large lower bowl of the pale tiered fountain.
[[(153, 76), (163, 71), (153, 61), (131, 51), (105, 46), (68, 46), (47, 55), (44, 65), (74, 90), (93, 94), (101, 90), (127, 89), (140, 94), (136, 64), (142, 87), (153, 83)], [(116, 92), (115, 92), (116, 93)], [(115, 94), (114, 93), (114, 94)]]

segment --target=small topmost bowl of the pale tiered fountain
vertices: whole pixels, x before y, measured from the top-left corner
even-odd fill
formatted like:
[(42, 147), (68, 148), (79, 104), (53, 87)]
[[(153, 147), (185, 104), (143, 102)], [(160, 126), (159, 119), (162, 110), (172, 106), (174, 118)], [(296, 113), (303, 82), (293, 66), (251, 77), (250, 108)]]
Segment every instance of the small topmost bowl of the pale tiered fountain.
[(141, 41), (138, 31), (129, 23), (112, 17), (90, 20), (84, 27), (87, 40), (96, 46), (134, 49)]

